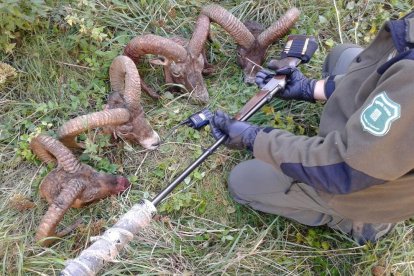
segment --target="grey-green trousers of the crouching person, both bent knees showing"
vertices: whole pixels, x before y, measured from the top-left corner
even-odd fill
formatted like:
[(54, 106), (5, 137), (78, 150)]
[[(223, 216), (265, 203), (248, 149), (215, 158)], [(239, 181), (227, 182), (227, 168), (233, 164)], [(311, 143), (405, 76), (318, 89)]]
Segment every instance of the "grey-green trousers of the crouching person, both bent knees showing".
[[(338, 45), (326, 58), (323, 75), (344, 74), (361, 51), (362, 48), (357, 45)], [(355, 237), (355, 229), (364, 225), (362, 222), (342, 218), (328, 207), (311, 186), (294, 181), (260, 160), (248, 160), (237, 165), (230, 173), (229, 191), (241, 204), (309, 226), (326, 224), (344, 233), (353, 233)]]

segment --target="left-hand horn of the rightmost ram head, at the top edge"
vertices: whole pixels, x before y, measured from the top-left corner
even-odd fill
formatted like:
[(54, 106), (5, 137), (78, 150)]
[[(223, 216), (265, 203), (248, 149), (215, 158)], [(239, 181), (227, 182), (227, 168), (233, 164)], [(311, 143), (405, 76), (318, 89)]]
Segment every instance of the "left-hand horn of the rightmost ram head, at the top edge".
[(255, 42), (253, 34), (234, 15), (217, 4), (203, 7), (201, 13), (225, 29), (243, 48), (250, 48)]

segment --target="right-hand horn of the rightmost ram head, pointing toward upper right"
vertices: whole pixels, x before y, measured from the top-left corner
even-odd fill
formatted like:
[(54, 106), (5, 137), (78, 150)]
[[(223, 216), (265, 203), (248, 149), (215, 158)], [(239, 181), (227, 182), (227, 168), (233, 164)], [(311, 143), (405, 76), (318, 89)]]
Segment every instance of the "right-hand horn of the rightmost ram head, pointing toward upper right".
[(289, 9), (279, 20), (263, 31), (257, 41), (260, 45), (267, 48), (276, 39), (283, 37), (289, 32), (289, 29), (299, 19), (300, 11), (297, 8)]

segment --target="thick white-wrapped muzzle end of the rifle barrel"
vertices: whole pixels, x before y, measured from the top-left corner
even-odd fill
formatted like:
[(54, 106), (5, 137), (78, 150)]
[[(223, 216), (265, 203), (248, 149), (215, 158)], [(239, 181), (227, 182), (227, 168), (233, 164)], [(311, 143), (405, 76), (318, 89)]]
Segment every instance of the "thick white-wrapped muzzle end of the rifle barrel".
[(83, 250), (76, 259), (68, 260), (60, 275), (96, 275), (105, 263), (116, 259), (119, 252), (139, 230), (149, 225), (156, 212), (154, 204), (148, 200), (135, 204), (113, 227), (106, 230), (102, 236), (95, 237), (95, 242)]

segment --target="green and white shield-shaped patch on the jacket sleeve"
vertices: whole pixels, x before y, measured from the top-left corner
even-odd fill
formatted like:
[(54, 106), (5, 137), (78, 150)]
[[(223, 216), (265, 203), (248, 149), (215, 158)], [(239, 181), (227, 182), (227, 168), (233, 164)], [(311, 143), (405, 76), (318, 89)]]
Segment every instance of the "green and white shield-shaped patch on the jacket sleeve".
[(387, 93), (381, 92), (361, 113), (362, 129), (375, 136), (384, 136), (391, 124), (400, 118), (400, 104), (391, 100)]

